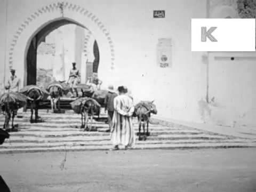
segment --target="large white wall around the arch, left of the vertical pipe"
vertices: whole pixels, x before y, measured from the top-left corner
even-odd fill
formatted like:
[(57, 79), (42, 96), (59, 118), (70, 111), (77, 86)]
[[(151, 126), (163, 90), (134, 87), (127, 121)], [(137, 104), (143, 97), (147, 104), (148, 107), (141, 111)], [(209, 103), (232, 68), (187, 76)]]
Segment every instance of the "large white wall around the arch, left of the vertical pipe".
[[(13, 34), (25, 19), (38, 8), (52, 4), (53, 0), (10, 0), (8, 10), (9, 26), (7, 29), (8, 45)], [(159, 115), (201, 121), (197, 102), (206, 95), (206, 64), (203, 52), (190, 51), (190, 19), (206, 17), (205, 0), (87, 0), (71, 1), (97, 15), (110, 34), (114, 43), (114, 68), (111, 62), (106, 33), (102, 33), (95, 21), (79, 12), (66, 11), (64, 14), (88, 27), (99, 43), (100, 66), (99, 77), (104, 86), (113, 83), (115, 86), (127, 85), (135, 100), (155, 100)], [(19, 8), (19, 12), (16, 10)], [(165, 10), (165, 19), (153, 19), (153, 10)], [(43, 23), (60, 17), (54, 11), (42, 14), (31, 21), (29, 28), (23, 30), (15, 49), (24, 52), (28, 38)], [(3, 19), (0, 18), (1, 22)], [(1, 36), (3, 35), (1, 32)], [(172, 67), (159, 68), (156, 62), (156, 45), (159, 38), (172, 38)], [(23, 74), (21, 63), (14, 63)]]

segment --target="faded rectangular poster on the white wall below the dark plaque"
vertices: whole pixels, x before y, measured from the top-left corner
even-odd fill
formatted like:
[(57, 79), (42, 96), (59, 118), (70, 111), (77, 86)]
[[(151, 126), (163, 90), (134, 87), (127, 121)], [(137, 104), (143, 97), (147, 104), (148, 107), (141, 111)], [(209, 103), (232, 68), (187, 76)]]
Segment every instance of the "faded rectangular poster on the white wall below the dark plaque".
[(172, 39), (171, 38), (158, 39), (157, 65), (161, 68), (172, 67)]

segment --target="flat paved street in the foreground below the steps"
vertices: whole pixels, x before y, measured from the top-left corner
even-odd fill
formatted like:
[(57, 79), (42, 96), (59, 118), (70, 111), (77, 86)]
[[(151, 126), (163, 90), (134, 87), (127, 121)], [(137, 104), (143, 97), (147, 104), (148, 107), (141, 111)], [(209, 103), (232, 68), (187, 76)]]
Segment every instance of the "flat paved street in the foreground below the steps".
[(1, 154), (11, 191), (256, 191), (256, 149)]

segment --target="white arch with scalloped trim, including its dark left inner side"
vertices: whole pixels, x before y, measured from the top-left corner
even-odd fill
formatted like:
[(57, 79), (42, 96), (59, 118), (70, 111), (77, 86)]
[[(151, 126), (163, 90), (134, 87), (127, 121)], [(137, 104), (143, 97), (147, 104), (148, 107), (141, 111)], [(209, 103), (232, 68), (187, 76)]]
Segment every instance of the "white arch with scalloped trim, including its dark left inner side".
[[(98, 73), (103, 82), (111, 81), (115, 54), (113, 41), (106, 27), (99, 18), (83, 7), (61, 2), (46, 5), (30, 14), (13, 36), (9, 50), (9, 68), (17, 69), (17, 75), (23, 80), (23, 85), (35, 79), (33, 70), (36, 68), (36, 63), (33, 64), (33, 61), (35, 61), (37, 45), (47, 33), (67, 23), (75, 23), (88, 29), (97, 39), (100, 50)], [(37, 36), (36, 41), (35, 36)], [(27, 71), (31, 71), (31, 74), (28, 75)]]

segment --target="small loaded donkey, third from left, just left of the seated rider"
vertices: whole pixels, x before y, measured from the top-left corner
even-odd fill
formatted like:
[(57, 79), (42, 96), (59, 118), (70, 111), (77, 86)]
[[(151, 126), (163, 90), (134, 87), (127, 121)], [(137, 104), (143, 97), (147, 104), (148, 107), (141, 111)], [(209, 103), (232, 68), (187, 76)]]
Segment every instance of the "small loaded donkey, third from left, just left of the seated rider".
[(51, 109), (52, 109), (52, 113), (54, 113), (55, 111), (61, 111), (60, 110), (60, 98), (63, 95), (63, 89), (60, 85), (55, 84), (55, 85), (51, 85), (49, 86), (48, 89), (49, 93), (50, 93), (50, 97), (51, 97)]

